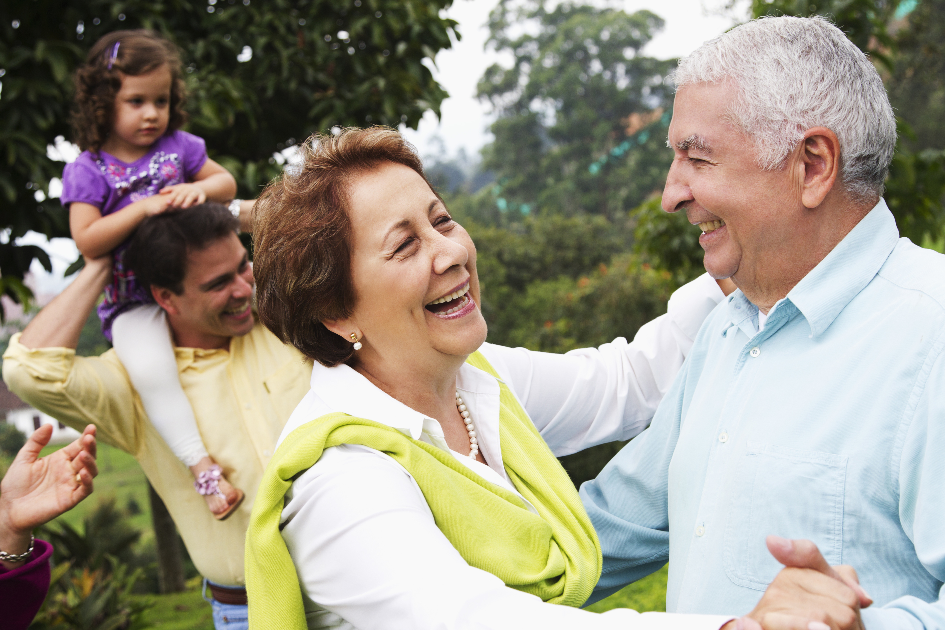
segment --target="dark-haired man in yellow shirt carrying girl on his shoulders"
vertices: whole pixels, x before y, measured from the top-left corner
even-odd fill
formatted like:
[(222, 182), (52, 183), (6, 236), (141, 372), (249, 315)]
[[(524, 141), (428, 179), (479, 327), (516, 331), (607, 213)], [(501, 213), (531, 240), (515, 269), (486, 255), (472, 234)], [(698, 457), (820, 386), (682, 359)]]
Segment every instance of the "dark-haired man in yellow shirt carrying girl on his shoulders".
[[(188, 221), (190, 213), (210, 213), (213, 220)], [(111, 257), (88, 260), (76, 280), (10, 339), (3, 378), (37, 409), (78, 430), (92, 422), (100, 440), (134, 455), (213, 587), (216, 627), (238, 630), (247, 623), (243, 544), (249, 513), (276, 439), (310, 388), (312, 365), (251, 315), (231, 316), (251, 298), (253, 279), (236, 220), (225, 207), (203, 204), (148, 221), (167, 230), (167, 238), (205, 229), (201, 225), (230, 226), (225, 236), (202, 240), (204, 247), (187, 247), (185, 264), (176, 265), (180, 293), (154, 293), (174, 335), (180, 383), (204, 444), (232, 485), (246, 492), (232, 516), (214, 519), (190, 471), (148, 421), (114, 350), (76, 356), (79, 332), (111, 281)], [(195, 238), (201, 242), (199, 234)], [(165, 244), (166, 238), (136, 239), (145, 248), (136, 257), (160, 260)]]

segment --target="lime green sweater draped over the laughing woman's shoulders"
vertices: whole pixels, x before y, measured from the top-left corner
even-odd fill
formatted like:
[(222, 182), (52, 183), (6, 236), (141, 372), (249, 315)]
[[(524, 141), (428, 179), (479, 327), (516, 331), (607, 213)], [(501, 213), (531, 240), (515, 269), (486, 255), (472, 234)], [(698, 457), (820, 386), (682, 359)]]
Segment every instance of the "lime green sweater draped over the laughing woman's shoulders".
[(318, 462), (322, 451), (339, 444), (382, 451), (406, 468), (439, 530), (472, 567), (545, 602), (577, 606), (587, 600), (600, 577), (601, 553), (575, 486), (485, 357), (476, 352), (467, 363), (499, 382), (503, 464), (539, 514), (451, 453), (387, 425), (341, 413), (313, 418), (273, 455), (252, 508), (246, 541), (250, 627), (306, 627), (299, 580), (279, 521), (292, 480)]

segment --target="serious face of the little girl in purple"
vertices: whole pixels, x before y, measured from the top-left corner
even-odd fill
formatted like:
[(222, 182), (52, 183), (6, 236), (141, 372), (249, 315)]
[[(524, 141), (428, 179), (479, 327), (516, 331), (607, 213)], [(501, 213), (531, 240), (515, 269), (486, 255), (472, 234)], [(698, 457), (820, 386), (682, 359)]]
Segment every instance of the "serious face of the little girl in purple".
[(123, 75), (115, 95), (112, 142), (122, 148), (153, 145), (170, 118), (171, 70), (163, 64), (145, 75)]

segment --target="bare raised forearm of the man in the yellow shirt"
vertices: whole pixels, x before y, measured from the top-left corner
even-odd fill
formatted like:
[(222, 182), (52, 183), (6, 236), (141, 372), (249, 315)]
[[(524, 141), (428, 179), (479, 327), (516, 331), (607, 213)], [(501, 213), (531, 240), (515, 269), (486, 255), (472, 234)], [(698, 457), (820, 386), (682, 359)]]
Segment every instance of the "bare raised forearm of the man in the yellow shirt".
[(76, 280), (29, 322), (20, 343), (29, 349), (75, 349), (85, 320), (111, 278), (111, 257), (86, 260)]

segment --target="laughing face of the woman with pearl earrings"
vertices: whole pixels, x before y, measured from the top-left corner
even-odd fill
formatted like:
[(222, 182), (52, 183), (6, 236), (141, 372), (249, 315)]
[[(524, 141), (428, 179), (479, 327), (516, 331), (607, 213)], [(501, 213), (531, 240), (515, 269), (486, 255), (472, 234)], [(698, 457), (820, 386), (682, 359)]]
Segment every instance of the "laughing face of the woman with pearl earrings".
[(357, 176), (348, 195), (354, 309), (326, 324), (362, 337), (357, 363), (465, 360), (486, 340), (467, 231), (403, 164)]

